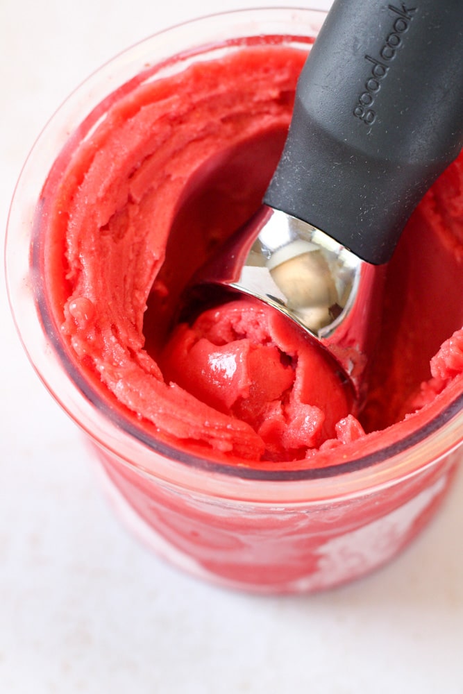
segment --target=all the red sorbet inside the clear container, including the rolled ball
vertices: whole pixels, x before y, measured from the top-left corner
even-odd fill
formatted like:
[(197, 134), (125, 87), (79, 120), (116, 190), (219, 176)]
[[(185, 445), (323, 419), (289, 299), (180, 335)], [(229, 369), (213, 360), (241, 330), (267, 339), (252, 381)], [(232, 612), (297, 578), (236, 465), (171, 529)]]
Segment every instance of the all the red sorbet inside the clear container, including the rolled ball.
[(337, 464), (420, 428), (463, 386), (461, 158), (390, 263), (361, 412), (269, 307), (242, 299), (176, 325), (194, 271), (260, 205), (303, 60), (269, 42), (131, 81), (69, 138), (37, 211), (49, 320), (92, 391), (148, 434), (240, 466)]

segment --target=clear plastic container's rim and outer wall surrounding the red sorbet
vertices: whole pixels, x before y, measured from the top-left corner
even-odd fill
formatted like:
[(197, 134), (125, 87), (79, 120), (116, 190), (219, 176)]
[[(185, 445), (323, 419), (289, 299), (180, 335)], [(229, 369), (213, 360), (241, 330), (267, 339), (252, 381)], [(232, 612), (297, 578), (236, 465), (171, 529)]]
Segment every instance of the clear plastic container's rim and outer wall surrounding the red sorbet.
[(34, 219), (47, 173), (71, 133), (85, 132), (89, 114), (103, 118), (105, 97), (124, 92), (146, 65), (155, 66), (147, 78), (158, 79), (268, 37), (307, 50), (324, 17), (290, 8), (231, 12), (171, 28), (121, 53), (51, 119), (26, 162), (9, 219), (8, 286), (19, 334), (44, 384), (85, 432), (117, 512), (172, 564), (256, 593), (328, 589), (376, 569), (410, 543), (435, 514), (461, 457), (461, 382), (418, 427), (402, 421), (393, 436), (378, 435), (347, 459), (338, 452), (327, 468), (271, 470), (199, 457), (124, 418), (69, 358), (47, 314)]

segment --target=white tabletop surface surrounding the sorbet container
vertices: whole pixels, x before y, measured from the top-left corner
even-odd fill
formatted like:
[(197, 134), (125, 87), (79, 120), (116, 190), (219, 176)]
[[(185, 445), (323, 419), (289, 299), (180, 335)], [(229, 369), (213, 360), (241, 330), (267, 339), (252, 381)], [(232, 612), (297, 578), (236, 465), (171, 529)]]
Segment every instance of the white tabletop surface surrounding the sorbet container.
[[(245, 5), (0, 0), (2, 235), (35, 137), (87, 74), (170, 24)], [(463, 693), (462, 474), (412, 548), (361, 582), (303, 598), (202, 584), (112, 514), (22, 353), (3, 278), (0, 291), (1, 694)]]

